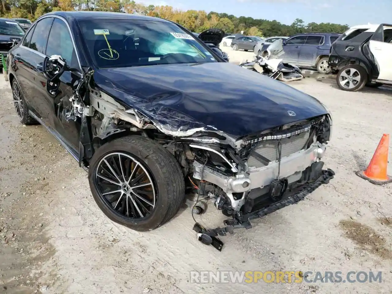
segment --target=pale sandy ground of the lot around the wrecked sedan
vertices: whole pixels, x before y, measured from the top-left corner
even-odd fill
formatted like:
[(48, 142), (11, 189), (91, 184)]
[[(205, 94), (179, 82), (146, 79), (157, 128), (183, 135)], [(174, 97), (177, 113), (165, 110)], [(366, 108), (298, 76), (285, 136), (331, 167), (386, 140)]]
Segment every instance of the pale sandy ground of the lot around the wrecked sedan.
[[(336, 176), (298, 205), (222, 237), (218, 252), (196, 240), (187, 208), (148, 233), (106, 218), (86, 172), (54, 137), (19, 123), (0, 76), (0, 292), (391, 293), (392, 184), (376, 186), (354, 172), (391, 130), (392, 91), (347, 93), (330, 80), (290, 85), (332, 111), (325, 167)], [(199, 220), (221, 225), (223, 215), (211, 206)], [(191, 270), (341, 271), (343, 278), (373, 270), (382, 271), (382, 283), (324, 283), (323, 274), (317, 283), (195, 284)]]

